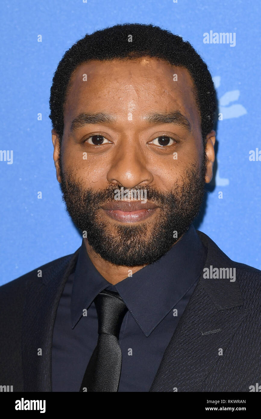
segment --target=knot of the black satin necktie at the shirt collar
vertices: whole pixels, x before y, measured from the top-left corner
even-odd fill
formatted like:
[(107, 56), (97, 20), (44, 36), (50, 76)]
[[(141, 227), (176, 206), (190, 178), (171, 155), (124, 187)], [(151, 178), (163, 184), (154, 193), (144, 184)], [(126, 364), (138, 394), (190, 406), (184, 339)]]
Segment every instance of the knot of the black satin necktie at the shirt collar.
[(119, 339), (121, 323), (127, 307), (117, 292), (103, 290), (94, 299), (98, 316), (98, 334), (106, 333)]

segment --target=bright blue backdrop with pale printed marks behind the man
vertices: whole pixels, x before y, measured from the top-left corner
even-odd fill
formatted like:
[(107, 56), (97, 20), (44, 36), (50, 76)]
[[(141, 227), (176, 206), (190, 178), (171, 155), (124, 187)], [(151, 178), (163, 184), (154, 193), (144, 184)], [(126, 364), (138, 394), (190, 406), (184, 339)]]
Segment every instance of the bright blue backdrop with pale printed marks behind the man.
[(2, 0), (2, 10), (0, 285), (81, 244), (55, 176), (49, 91), (75, 41), (126, 22), (169, 29), (207, 62), (219, 98), (217, 166), (195, 225), (231, 259), (261, 269), (258, 0)]

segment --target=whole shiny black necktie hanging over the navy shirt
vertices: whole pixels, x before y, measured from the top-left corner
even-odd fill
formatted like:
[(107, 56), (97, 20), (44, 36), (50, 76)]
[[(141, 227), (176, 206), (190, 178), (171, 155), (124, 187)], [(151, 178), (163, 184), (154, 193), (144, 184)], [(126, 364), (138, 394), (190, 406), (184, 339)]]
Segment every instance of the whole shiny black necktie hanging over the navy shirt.
[(98, 341), (87, 365), (80, 392), (118, 391), (121, 348), (118, 339), (127, 307), (118, 293), (103, 290), (94, 299), (98, 315)]

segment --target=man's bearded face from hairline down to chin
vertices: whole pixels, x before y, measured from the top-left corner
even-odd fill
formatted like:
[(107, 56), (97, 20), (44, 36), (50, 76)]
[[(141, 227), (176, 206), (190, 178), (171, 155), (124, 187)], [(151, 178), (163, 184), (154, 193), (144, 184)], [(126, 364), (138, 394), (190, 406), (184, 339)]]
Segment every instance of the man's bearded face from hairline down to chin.
[(71, 82), (60, 158), (53, 131), (67, 211), (104, 259), (152, 263), (189, 228), (211, 180), (189, 72), (150, 57), (95, 60)]

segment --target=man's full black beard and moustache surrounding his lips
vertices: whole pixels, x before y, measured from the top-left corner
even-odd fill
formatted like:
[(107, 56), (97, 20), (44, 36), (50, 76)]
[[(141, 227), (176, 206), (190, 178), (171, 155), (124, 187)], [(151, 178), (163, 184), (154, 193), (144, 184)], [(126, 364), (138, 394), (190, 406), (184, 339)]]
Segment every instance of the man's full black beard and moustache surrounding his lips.
[(137, 191), (146, 189), (147, 200), (159, 206), (158, 215), (137, 225), (101, 218), (99, 207), (115, 202), (114, 191), (121, 189), (121, 184), (97, 191), (84, 189), (73, 173), (62, 172), (59, 158), (62, 200), (76, 227), (103, 259), (123, 266), (149, 264), (167, 253), (198, 215), (205, 192), (205, 156), (203, 160), (201, 167), (192, 164), (186, 168), (181, 184), (173, 183), (171, 192), (163, 193), (150, 185), (136, 187)]

